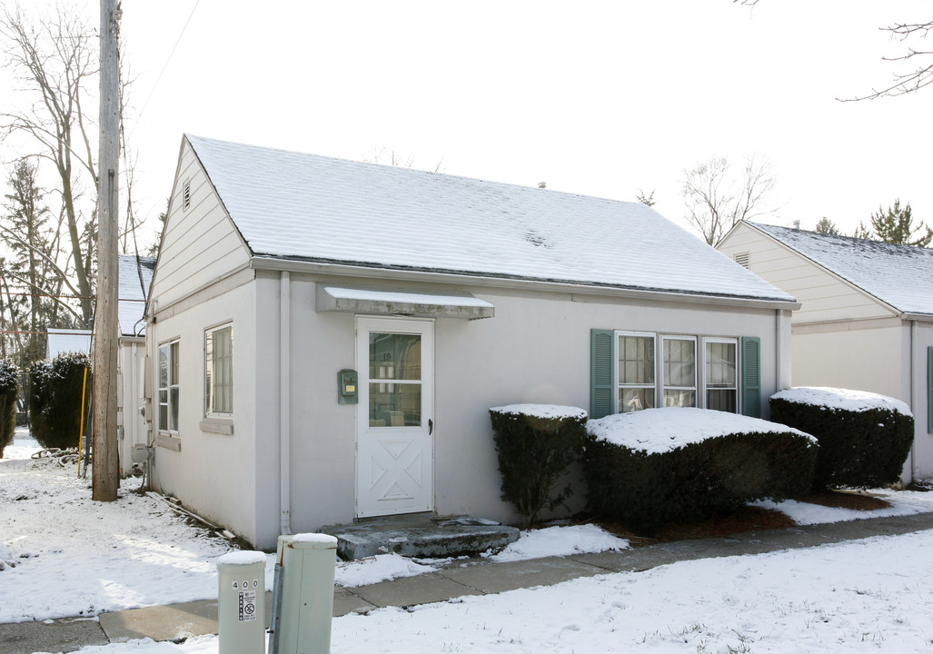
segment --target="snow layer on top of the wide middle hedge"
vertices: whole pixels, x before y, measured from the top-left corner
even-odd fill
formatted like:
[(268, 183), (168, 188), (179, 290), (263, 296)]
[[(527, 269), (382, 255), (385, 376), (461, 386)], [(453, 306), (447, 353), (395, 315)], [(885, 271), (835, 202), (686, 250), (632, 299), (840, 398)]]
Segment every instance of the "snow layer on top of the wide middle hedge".
[(794, 434), (816, 442), (809, 434), (784, 424), (737, 413), (689, 407), (614, 413), (591, 420), (586, 427), (597, 440), (648, 454), (672, 452), (709, 438), (732, 434)]

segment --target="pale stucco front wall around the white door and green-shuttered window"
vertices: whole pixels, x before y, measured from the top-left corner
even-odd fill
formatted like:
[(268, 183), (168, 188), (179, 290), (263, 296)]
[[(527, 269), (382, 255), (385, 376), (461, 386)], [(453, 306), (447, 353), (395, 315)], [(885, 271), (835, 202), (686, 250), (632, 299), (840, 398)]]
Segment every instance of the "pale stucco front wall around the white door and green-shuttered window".
[[(366, 362), (355, 361), (355, 316), (316, 313), (314, 278), (294, 275), (292, 280), (291, 518), (293, 531), (306, 531), (354, 518), (356, 407), (338, 404), (337, 372)], [(438, 292), (451, 290), (456, 289)], [(737, 312), (673, 302), (572, 301), (567, 293), (468, 290), (493, 303), (495, 317), (435, 321), (435, 493), (441, 515), (517, 519), (499, 498), (488, 409), (515, 402), (589, 409), (594, 327), (758, 336), (762, 395), (778, 390), (776, 321), (770, 309)], [(788, 352), (789, 321), (785, 325)], [(786, 375), (789, 380), (789, 360)], [(577, 485), (576, 490), (576, 508), (582, 508), (584, 489)]]

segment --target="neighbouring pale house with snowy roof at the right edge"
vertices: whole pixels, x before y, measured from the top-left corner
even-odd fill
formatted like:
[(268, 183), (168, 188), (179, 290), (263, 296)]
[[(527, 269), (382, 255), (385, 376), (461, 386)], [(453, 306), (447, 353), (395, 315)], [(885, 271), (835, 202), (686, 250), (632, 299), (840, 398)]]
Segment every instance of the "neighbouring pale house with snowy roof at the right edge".
[(906, 402), (916, 423), (904, 480), (933, 478), (933, 250), (755, 223), (718, 248), (801, 302), (794, 385)]

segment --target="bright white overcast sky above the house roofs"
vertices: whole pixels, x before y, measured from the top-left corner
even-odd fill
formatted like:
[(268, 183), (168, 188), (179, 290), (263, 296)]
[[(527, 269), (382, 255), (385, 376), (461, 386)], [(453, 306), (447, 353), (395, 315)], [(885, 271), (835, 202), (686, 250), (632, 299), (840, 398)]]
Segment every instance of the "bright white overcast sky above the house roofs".
[[(81, 0), (96, 24), (99, 4)], [(886, 85), (904, 46), (880, 27), (929, 0), (273, 2), (124, 0), (140, 213), (171, 192), (182, 134), (618, 200), (654, 191), (685, 224), (684, 169), (773, 162), (764, 222), (879, 205), (933, 222), (933, 88)], [(177, 42), (177, 47), (175, 44)], [(933, 36), (927, 47), (933, 46)]]

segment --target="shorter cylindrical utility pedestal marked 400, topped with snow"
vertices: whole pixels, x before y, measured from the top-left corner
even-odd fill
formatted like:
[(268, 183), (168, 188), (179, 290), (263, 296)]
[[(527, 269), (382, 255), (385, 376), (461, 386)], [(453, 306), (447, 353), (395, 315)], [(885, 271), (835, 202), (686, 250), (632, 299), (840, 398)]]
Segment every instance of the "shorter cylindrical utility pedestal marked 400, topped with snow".
[(266, 645), (266, 555), (233, 551), (217, 559), (219, 654), (261, 654)]

